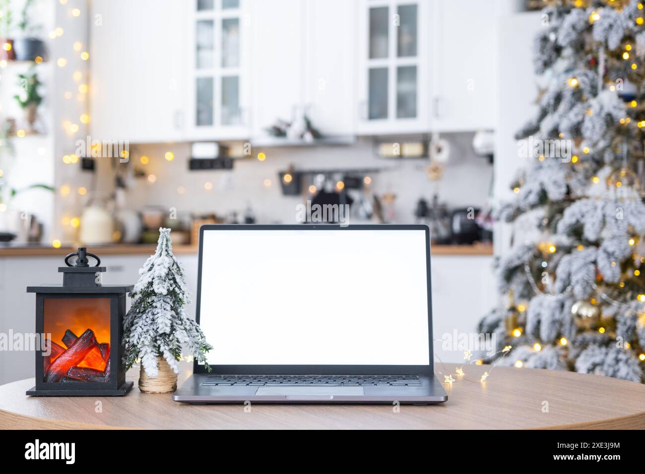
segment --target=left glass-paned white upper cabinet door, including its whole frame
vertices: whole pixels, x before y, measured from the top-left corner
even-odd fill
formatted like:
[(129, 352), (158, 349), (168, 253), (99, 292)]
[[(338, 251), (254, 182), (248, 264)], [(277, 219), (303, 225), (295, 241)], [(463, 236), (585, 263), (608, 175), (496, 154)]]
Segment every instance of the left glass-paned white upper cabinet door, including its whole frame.
[(192, 0), (188, 17), (188, 140), (250, 135), (248, 0)]

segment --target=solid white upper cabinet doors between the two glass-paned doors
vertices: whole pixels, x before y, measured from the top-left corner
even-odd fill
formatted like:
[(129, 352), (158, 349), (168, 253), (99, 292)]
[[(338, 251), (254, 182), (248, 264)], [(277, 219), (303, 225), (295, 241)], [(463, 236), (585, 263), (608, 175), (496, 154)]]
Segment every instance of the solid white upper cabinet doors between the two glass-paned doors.
[(353, 135), (355, 4), (256, 0), (253, 8), (253, 133), (307, 115), (325, 137)]

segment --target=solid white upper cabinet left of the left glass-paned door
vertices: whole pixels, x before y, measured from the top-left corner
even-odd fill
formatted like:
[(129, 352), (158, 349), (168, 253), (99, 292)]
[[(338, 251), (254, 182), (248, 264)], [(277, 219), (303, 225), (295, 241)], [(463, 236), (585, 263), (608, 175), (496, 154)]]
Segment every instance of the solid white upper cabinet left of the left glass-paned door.
[(182, 139), (186, 2), (93, 0), (90, 5), (92, 138)]

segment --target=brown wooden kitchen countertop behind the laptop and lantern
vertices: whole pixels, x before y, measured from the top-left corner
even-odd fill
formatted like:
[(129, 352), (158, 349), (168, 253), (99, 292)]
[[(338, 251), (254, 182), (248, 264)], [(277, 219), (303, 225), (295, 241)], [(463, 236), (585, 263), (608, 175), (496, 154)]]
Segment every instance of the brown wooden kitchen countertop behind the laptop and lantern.
[[(114, 244), (106, 246), (88, 246), (88, 251), (101, 255), (152, 255), (155, 244)], [(53, 248), (41, 244), (0, 244), (0, 257), (64, 257), (76, 252), (76, 247), (62, 246)], [(174, 245), (176, 255), (197, 254), (196, 245)], [(473, 245), (434, 245), (430, 249), (432, 255), (493, 255), (491, 244)]]

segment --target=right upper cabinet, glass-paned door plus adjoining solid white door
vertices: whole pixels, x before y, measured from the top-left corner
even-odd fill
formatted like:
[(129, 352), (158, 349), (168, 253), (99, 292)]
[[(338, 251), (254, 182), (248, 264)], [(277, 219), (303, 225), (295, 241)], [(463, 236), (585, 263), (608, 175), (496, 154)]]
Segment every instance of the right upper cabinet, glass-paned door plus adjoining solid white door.
[(502, 6), (477, 0), (360, 5), (359, 133), (494, 128)]

